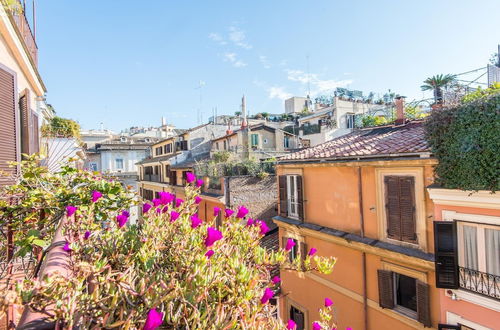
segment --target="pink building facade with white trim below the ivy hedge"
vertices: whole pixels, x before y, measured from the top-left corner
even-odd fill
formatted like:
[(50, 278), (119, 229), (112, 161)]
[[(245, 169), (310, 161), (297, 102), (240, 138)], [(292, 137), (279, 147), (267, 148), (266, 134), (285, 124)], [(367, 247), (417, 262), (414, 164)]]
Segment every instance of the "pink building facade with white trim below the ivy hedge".
[(428, 189), (434, 202), (440, 329), (500, 329), (500, 196)]

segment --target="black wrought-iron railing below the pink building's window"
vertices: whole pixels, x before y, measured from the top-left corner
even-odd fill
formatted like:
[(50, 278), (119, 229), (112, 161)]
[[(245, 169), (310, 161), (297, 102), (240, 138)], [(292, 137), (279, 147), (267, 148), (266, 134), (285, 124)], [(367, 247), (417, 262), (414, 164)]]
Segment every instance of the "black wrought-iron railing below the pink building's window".
[(460, 287), (482, 296), (500, 300), (500, 276), (459, 267)]

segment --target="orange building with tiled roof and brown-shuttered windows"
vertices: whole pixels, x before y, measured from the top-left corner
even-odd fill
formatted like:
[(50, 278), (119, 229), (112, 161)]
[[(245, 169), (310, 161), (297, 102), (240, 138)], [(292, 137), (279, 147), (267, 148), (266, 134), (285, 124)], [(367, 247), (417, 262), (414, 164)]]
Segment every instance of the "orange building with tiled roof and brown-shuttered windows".
[(421, 123), (360, 130), (278, 165), (280, 242), (335, 256), (329, 275), (282, 270), (279, 313), (311, 329), (325, 297), (338, 329), (437, 328), (433, 166)]

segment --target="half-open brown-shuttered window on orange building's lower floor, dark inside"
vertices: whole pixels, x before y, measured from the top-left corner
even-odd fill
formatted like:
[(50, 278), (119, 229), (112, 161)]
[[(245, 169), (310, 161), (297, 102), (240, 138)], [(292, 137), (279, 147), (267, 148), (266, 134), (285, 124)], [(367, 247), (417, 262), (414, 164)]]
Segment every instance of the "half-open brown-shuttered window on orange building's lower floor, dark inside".
[(413, 317), (431, 327), (429, 285), (415, 278), (390, 270), (379, 269), (379, 305)]

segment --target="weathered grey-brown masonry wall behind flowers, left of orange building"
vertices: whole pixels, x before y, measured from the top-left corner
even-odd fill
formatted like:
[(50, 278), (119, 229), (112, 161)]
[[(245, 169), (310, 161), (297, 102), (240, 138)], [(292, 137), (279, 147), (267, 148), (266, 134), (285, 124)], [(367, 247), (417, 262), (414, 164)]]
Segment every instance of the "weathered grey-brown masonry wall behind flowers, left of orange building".
[(271, 218), (278, 214), (278, 183), (275, 175), (265, 179), (253, 176), (231, 176), (225, 178), (226, 205), (236, 209), (246, 206), (249, 217), (273, 224)]

